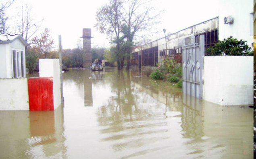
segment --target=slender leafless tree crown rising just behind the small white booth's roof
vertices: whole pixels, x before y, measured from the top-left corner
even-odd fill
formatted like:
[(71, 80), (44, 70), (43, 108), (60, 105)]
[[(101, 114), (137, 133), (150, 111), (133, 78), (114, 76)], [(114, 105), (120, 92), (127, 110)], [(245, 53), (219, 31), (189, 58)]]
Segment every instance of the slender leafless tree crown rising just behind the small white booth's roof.
[[(28, 44), (35, 43), (35, 34), (42, 25), (43, 19), (35, 21), (33, 19), (32, 8), (28, 5), (21, 5), (21, 10), (17, 16), (17, 30), (22, 37), (27, 41)], [(33, 39), (33, 40), (32, 40)]]

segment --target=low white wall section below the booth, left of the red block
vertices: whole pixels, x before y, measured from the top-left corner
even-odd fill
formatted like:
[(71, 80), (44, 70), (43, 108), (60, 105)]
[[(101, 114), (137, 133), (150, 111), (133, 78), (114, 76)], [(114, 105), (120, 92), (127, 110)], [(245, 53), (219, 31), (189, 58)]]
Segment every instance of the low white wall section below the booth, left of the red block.
[(27, 78), (0, 78), (0, 110), (29, 110)]

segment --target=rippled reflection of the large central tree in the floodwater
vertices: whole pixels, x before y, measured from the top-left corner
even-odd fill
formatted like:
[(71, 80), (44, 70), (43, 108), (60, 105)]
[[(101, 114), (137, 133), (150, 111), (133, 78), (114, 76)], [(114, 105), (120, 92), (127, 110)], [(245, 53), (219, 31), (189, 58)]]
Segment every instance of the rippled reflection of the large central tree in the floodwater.
[(160, 134), (168, 132), (167, 122), (157, 120), (163, 105), (131, 82), (131, 72), (115, 70), (106, 76), (112, 96), (97, 112), (100, 133), (106, 134), (102, 141), (113, 141), (112, 148), (120, 151), (165, 140)]

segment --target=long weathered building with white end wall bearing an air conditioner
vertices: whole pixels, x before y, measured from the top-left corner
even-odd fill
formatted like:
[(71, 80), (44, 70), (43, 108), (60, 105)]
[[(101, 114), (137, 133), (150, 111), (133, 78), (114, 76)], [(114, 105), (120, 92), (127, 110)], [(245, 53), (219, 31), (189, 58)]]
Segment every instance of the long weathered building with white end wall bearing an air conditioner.
[(167, 35), (166, 39), (162, 37), (137, 47), (133, 51), (132, 64), (138, 65), (141, 59), (142, 65), (156, 66), (156, 62), (161, 62), (163, 55), (181, 53), (182, 46), (197, 43), (199, 35), (202, 34), (206, 48), (230, 36), (245, 40), (251, 45), (254, 33), (254, 1), (219, 0), (218, 4), (218, 17), (209, 17), (207, 21)]

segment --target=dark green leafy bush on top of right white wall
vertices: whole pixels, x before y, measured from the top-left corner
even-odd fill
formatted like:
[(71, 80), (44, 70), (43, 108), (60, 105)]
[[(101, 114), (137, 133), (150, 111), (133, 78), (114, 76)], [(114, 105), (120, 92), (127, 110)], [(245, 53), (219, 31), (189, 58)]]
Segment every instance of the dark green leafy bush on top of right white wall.
[(206, 49), (205, 56), (252, 56), (252, 47), (249, 47), (244, 40), (237, 40), (233, 37), (218, 41), (214, 46)]

